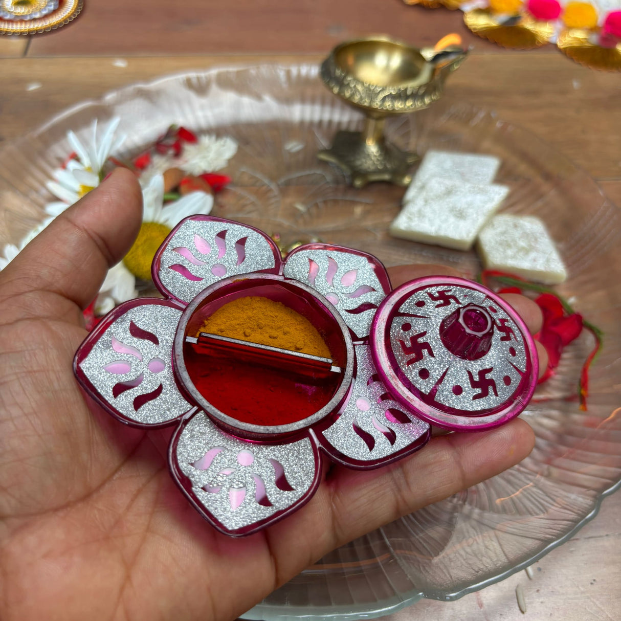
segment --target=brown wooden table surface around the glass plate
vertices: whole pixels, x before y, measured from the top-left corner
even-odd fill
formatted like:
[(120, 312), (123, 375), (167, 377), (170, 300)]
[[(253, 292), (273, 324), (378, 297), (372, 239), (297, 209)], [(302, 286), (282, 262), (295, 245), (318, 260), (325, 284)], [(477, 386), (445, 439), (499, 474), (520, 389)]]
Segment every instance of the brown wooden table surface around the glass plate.
[[(0, 37), (0, 144), (68, 106), (156, 76), (232, 63), (317, 62), (337, 42), (389, 34), (429, 45), (459, 32), (474, 45), (446, 91), (550, 142), (621, 204), (621, 75), (546, 46), (502, 50), (459, 11), (401, 0), (86, 0), (75, 22), (32, 39)], [(122, 59), (121, 62), (118, 60)], [(621, 494), (576, 537), (524, 572), (458, 602), (423, 601), (389, 617), (496, 621), (621, 619)], [(520, 584), (527, 612), (517, 607)]]

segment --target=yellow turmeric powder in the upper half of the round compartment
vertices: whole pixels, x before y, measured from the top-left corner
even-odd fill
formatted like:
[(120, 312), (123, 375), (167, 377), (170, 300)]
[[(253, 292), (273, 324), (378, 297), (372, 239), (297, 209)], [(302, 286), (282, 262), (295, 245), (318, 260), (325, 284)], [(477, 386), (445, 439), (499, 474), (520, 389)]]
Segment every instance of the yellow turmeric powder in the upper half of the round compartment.
[(240, 297), (206, 319), (201, 332), (330, 358), (330, 350), (306, 317), (266, 297)]

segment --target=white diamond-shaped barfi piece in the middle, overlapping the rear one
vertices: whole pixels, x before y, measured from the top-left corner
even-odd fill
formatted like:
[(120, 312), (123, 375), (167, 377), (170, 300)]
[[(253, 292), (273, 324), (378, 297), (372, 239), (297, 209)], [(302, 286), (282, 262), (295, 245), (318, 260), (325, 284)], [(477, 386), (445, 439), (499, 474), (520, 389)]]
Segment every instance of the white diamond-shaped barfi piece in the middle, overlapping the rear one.
[(509, 188), (431, 178), (406, 202), (391, 224), (394, 237), (469, 250)]

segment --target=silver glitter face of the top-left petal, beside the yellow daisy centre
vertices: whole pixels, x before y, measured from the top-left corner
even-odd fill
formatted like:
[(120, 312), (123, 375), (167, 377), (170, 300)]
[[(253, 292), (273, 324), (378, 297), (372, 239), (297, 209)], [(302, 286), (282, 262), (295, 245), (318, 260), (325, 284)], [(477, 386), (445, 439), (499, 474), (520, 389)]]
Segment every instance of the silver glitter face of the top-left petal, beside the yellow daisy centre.
[(189, 302), (215, 282), (276, 267), (269, 238), (234, 222), (189, 219), (160, 256), (158, 277), (177, 299)]

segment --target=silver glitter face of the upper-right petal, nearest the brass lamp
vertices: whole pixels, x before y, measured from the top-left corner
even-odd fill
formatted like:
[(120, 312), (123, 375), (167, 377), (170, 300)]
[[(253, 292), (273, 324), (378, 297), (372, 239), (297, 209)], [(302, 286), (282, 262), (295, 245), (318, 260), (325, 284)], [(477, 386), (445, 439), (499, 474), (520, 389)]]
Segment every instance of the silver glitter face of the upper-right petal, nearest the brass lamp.
[(284, 276), (311, 286), (331, 302), (357, 338), (366, 338), (380, 302), (386, 297), (374, 267), (366, 256), (330, 250), (330, 247), (301, 247), (288, 256)]

